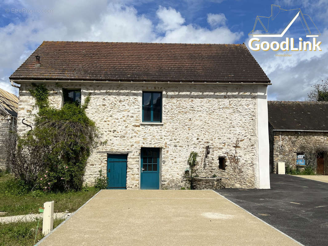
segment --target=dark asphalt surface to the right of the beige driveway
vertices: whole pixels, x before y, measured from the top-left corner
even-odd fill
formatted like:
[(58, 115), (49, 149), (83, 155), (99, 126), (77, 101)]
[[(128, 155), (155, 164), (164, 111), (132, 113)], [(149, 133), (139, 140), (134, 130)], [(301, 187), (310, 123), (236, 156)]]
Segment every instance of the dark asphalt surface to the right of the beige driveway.
[(328, 245), (328, 184), (270, 174), (271, 190), (217, 190), (304, 245)]

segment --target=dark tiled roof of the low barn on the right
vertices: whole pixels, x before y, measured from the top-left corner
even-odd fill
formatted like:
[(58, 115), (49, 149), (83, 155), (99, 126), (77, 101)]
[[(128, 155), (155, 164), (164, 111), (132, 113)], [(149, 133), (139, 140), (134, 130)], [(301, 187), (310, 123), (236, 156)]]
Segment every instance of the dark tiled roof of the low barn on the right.
[(275, 130), (328, 131), (328, 102), (268, 101)]

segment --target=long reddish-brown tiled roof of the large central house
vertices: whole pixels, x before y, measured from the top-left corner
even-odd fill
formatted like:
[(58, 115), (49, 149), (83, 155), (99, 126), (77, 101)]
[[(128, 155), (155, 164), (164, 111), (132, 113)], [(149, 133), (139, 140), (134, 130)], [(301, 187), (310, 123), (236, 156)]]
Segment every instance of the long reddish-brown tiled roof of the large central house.
[(270, 82), (244, 44), (64, 41), (44, 41), (10, 79)]

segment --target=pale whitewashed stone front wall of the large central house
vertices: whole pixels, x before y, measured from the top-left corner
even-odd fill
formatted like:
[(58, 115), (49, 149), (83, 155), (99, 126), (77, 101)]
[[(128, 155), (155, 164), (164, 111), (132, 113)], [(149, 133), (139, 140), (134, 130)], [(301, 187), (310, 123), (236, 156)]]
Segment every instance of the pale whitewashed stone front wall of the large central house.
[[(28, 92), (31, 85), (22, 83), (18, 109), (18, 132), (29, 130), (21, 124), (26, 118), (33, 124), (34, 99)], [(228, 177), (225, 187), (258, 188), (257, 147), (257, 87), (223, 85), (174, 85), (133, 83), (83, 83), (48, 85), (50, 105), (62, 106), (62, 88), (81, 88), (82, 103), (91, 97), (87, 115), (99, 128), (101, 141), (91, 154), (85, 172), (85, 182), (91, 184), (100, 168), (106, 172), (107, 153), (129, 152), (127, 188), (139, 189), (140, 149), (161, 148), (161, 189), (185, 187), (182, 175), (190, 152), (199, 154), (198, 175), (216, 174)], [(142, 91), (163, 93), (163, 124), (141, 122)], [(238, 156), (245, 179), (232, 175), (229, 161), (226, 170), (218, 168), (218, 156), (233, 153), (233, 141), (240, 143)], [(206, 146), (210, 154), (205, 159)], [(242, 181), (244, 180), (244, 181)]]

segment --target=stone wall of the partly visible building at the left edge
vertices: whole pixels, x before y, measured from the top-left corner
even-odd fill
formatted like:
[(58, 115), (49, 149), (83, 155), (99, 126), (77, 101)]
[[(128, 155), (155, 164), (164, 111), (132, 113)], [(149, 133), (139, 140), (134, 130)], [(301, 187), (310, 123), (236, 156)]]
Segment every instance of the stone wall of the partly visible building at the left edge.
[(6, 163), (5, 163), (5, 150), (6, 150), (6, 143), (4, 141), (5, 135), (10, 130), (15, 130), (16, 121), (10, 114), (8, 114), (5, 110), (0, 108), (0, 170), (6, 170)]

